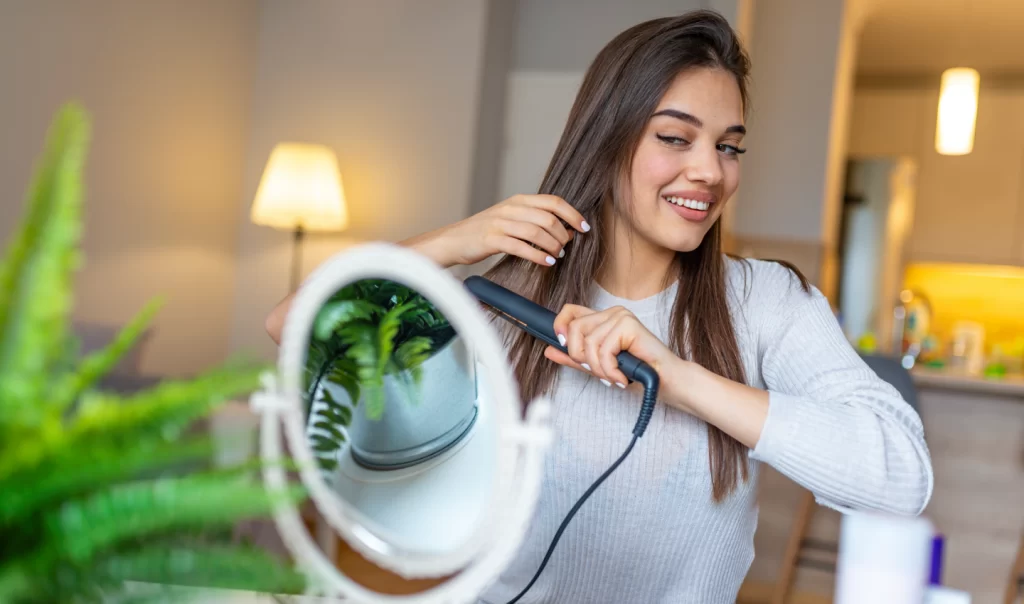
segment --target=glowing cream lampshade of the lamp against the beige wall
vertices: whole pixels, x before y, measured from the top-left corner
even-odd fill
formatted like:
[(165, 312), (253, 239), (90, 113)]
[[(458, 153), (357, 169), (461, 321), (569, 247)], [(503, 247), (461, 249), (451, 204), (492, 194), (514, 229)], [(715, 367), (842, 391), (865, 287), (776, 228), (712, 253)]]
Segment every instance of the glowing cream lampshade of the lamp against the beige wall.
[(266, 162), (250, 217), (274, 228), (347, 227), (348, 208), (334, 152), (318, 144), (278, 144)]

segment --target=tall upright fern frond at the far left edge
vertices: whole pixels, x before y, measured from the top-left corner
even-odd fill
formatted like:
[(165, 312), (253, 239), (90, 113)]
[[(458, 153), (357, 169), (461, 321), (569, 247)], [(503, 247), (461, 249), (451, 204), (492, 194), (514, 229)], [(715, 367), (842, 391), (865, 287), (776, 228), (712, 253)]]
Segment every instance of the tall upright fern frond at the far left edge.
[(28, 212), (0, 264), (0, 424), (39, 421), (49, 369), (62, 355), (88, 138), (82, 109), (62, 107), (48, 133)]

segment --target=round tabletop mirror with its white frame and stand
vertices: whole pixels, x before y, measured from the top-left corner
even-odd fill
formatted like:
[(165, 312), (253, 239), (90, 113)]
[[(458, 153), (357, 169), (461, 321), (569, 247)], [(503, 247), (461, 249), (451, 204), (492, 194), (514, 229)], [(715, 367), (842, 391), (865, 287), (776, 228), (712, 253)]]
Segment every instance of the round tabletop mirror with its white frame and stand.
[[(498, 333), (468, 291), (404, 248), (353, 249), (298, 292), (280, 352), (254, 396), (261, 448), (279, 461), (284, 428), (317, 521), (340, 541), (344, 555), (323, 533), (315, 543), (294, 508), (275, 518), (319, 591), (418, 602), (482, 591), (525, 532), (550, 432), (547, 401), (522, 417)], [(283, 471), (264, 475), (283, 487)], [(427, 580), (396, 591), (368, 573)]]

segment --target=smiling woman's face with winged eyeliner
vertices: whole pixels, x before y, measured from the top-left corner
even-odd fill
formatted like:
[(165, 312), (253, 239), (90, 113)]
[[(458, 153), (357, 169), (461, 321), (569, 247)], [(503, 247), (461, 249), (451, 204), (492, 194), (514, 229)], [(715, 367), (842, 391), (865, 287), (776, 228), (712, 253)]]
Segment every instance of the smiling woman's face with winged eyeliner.
[(676, 252), (696, 249), (739, 184), (744, 132), (734, 76), (717, 69), (677, 76), (633, 157), (634, 231)]

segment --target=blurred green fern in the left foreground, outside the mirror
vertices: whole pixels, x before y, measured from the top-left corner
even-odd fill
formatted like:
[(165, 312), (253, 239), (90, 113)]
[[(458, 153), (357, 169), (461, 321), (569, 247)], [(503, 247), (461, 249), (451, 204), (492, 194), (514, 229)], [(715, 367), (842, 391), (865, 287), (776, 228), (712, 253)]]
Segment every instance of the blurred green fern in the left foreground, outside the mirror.
[(287, 563), (228, 541), (239, 520), (278, 504), (258, 465), (211, 468), (213, 441), (188, 436), (256, 388), (264, 368), (230, 362), (131, 395), (97, 390), (158, 301), (79, 358), (69, 325), (88, 133), (81, 107), (61, 109), (0, 260), (0, 602), (180, 600), (127, 593), (128, 580), (300, 593)]

